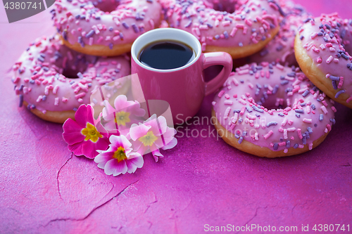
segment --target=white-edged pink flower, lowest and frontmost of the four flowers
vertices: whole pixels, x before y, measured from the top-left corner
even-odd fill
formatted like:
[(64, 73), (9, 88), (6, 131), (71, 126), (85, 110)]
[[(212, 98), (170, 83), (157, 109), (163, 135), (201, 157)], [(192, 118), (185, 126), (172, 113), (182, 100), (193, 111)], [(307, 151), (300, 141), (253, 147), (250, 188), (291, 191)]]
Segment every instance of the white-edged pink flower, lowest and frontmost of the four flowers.
[(98, 167), (104, 169), (107, 175), (133, 173), (143, 166), (142, 155), (132, 152), (132, 144), (125, 136), (112, 135), (110, 142), (108, 150), (98, 150), (99, 155), (94, 158), (94, 162), (98, 163)]

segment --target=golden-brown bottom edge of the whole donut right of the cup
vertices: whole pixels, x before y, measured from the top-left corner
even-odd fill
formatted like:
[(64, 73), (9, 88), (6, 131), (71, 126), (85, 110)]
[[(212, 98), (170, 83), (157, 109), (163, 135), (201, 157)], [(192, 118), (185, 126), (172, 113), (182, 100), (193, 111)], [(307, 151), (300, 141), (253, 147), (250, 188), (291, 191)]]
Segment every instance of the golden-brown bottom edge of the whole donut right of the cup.
[[(286, 157), (286, 156), (298, 155), (303, 152), (310, 151), (308, 148), (308, 145), (304, 145), (303, 148), (296, 148), (296, 149), (291, 147), (291, 148), (288, 148), (289, 151), (287, 153), (284, 153), (284, 150), (272, 151), (269, 148), (254, 145), (253, 143), (250, 143), (249, 141), (246, 141), (246, 140), (242, 141), (242, 143), (239, 144), (237, 141), (237, 138), (234, 137), (234, 134), (232, 134), (230, 131), (227, 131), (227, 129), (225, 129), (218, 122), (218, 118), (216, 117), (215, 110), (213, 108), (211, 110), (211, 117), (212, 117), (211, 119), (213, 121), (213, 125), (215, 126), (215, 129), (218, 132), (218, 134), (219, 134), (219, 131), (226, 133), (226, 134), (222, 134), (223, 136), (222, 140), (224, 140), (228, 145), (231, 145), (232, 147), (237, 148), (238, 150), (241, 150), (243, 152), (247, 152), (251, 155), (256, 155), (258, 157), (274, 158), (274, 157)], [(327, 137), (327, 134), (329, 134), (329, 131), (326, 134), (322, 135), (317, 140), (313, 141), (313, 148), (320, 145), (320, 143), (322, 143), (322, 141), (324, 141), (325, 138)]]

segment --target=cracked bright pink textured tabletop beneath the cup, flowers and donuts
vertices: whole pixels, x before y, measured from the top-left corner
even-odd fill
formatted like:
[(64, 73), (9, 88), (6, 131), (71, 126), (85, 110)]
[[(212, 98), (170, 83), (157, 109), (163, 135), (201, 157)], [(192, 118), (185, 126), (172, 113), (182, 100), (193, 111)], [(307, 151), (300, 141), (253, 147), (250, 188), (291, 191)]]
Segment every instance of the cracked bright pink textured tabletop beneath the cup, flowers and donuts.
[[(298, 1), (313, 15), (343, 17), (352, 11), (348, 2)], [(0, 8), (1, 233), (202, 233), (205, 224), (352, 228), (352, 110), (342, 105), (325, 142), (294, 157), (240, 152), (206, 123), (182, 132), (205, 129), (209, 137), (178, 138), (161, 162), (146, 155), (132, 175), (106, 176), (92, 160), (72, 156), (60, 124), (18, 108), (6, 73), (27, 44), (54, 33), (49, 18), (44, 11), (10, 25)], [(210, 117), (211, 100), (199, 117)]]

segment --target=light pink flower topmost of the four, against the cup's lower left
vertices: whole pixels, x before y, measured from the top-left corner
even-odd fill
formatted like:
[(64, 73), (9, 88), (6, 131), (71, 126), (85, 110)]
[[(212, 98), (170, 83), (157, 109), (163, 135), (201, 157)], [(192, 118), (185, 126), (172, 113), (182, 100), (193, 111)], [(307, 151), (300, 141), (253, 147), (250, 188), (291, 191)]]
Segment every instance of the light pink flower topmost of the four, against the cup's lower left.
[(106, 120), (104, 127), (108, 130), (117, 129), (122, 135), (126, 135), (130, 131), (130, 126), (134, 123), (142, 121), (145, 110), (141, 108), (139, 102), (127, 100), (125, 95), (115, 98), (113, 108), (107, 100), (103, 101), (103, 119)]

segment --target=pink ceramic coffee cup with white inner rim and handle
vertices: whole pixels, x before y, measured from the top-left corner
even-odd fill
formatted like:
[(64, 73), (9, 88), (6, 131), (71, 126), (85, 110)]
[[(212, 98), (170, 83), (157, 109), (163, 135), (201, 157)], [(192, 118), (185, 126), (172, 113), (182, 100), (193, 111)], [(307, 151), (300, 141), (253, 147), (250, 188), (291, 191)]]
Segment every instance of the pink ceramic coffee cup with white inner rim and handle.
[[(168, 70), (142, 64), (138, 60), (142, 48), (153, 41), (161, 40), (187, 44), (195, 51), (196, 58), (182, 67)], [(139, 36), (132, 44), (131, 55), (132, 74), (138, 74), (145, 100), (167, 101), (175, 124), (182, 124), (185, 119), (196, 115), (204, 96), (219, 89), (232, 71), (230, 54), (202, 53), (201, 44), (194, 35), (170, 27), (151, 30)], [(213, 65), (222, 65), (223, 69), (209, 82), (205, 82), (203, 70)]]

